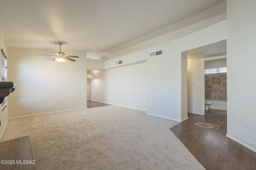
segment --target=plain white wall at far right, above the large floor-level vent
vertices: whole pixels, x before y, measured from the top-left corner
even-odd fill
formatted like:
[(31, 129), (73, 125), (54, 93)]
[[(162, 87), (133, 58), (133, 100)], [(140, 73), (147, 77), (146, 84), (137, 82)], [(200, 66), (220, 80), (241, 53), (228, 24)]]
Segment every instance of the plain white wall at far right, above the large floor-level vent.
[(230, 136), (232, 120), (256, 128), (255, 9), (255, 0), (228, 0), (227, 98)]

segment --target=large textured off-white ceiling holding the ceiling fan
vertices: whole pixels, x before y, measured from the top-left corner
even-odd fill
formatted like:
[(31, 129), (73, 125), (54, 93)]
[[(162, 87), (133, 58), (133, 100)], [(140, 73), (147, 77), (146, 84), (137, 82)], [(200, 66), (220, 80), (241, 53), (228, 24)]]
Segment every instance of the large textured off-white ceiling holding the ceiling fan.
[(8, 47), (107, 51), (226, 0), (1, 0)]

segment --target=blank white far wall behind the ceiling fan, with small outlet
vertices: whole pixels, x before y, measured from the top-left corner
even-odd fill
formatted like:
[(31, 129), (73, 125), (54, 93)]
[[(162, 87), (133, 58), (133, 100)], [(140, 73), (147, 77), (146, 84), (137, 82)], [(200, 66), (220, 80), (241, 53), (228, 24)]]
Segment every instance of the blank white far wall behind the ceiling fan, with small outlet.
[[(8, 78), (18, 84), (9, 97), (10, 117), (86, 107), (86, 52), (76, 62), (52, 61), (49, 49), (8, 49)], [(50, 103), (53, 106), (50, 107)]]

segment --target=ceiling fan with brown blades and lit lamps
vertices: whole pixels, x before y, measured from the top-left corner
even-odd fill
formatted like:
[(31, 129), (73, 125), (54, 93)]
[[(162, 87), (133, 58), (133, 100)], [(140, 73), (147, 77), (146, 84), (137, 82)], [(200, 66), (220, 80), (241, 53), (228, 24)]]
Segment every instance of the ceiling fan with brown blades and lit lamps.
[[(60, 64), (62, 62), (65, 62), (67, 60), (70, 60), (70, 61), (75, 61), (74, 59), (70, 59), (70, 57), (73, 57), (73, 58), (79, 58), (78, 56), (75, 56), (75, 55), (65, 55), (65, 53), (61, 52), (61, 45), (64, 45), (66, 44), (66, 42), (64, 41), (56, 41), (54, 42), (54, 44), (57, 44), (57, 45), (60, 45), (60, 51), (59, 52), (52, 52), (52, 53), (55, 53), (55, 55), (51, 55), (51, 56), (56, 56), (52, 61), (58, 61), (60, 62)], [(44, 54), (38, 54), (38, 55), (44, 55)]]

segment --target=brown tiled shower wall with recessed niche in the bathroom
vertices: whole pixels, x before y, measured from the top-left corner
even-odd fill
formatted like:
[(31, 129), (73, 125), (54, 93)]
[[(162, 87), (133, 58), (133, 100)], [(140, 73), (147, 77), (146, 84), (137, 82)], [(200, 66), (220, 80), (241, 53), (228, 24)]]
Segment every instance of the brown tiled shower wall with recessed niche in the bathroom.
[(227, 100), (227, 73), (204, 74), (205, 99)]

